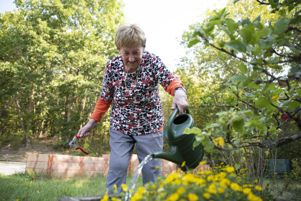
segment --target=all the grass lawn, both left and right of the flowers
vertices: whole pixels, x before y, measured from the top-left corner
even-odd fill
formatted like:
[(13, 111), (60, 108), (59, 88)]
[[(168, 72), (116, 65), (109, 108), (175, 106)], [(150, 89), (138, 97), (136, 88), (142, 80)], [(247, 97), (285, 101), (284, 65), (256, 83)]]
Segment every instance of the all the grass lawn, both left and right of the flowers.
[[(127, 178), (129, 184), (131, 177)], [(34, 173), (18, 173), (14, 175), (0, 175), (0, 201), (26, 200), (56, 200), (59, 197), (82, 197), (104, 195), (106, 178), (75, 177), (72, 179), (47, 178)], [(278, 199), (301, 200), (301, 183), (291, 180), (287, 185), (284, 179), (267, 178), (264, 180), (263, 190), (267, 190)], [(139, 177), (135, 190), (142, 186)], [(287, 187), (285, 187), (287, 186)], [(280, 195), (279, 195), (280, 194)]]

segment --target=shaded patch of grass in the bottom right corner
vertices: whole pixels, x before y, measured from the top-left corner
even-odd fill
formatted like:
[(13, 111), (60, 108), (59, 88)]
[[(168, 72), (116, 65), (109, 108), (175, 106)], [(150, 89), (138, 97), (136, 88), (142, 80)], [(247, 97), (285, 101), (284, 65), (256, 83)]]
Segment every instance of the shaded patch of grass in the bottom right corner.
[[(268, 187), (265, 187), (267, 186)], [(263, 189), (268, 190), (275, 198), (291, 201), (301, 200), (301, 182), (290, 180), (288, 183), (283, 178), (267, 178), (263, 181)]]

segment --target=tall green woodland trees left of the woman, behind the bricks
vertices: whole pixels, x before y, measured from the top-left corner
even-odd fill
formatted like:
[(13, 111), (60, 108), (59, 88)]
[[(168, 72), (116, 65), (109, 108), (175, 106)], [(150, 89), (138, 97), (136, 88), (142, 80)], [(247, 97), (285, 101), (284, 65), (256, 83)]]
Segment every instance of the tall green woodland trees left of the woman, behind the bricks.
[[(89, 119), (123, 4), (109, 1), (16, 0), (0, 16), (0, 135), (76, 135)], [(105, 115), (104, 120), (107, 120)], [(92, 133), (106, 143), (107, 123)], [(90, 144), (90, 143), (89, 143)], [(92, 150), (95, 153), (98, 146)]]

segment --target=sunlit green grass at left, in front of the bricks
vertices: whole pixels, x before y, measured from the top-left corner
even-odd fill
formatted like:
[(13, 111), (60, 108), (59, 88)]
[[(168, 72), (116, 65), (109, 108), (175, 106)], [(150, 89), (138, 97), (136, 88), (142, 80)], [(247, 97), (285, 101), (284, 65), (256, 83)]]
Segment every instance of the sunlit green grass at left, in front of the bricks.
[[(127, 178), (129, 184), (131, 177)], [(59, 197), (82, 197), (104, 195), (106, 178), (75, 177), (72, 179), (47, 178), (41, 175), (14, 174), (0, 175), (0, 200), (1, 201), (26, 201), (26, 200), (56, 200)], [(142, 186), (139, 177), (135, 190)]]

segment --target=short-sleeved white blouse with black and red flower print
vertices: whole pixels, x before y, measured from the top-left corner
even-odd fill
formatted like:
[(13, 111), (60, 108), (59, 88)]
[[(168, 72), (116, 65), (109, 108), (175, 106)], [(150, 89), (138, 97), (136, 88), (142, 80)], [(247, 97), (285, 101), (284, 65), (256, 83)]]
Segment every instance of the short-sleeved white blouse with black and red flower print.
[(113, 100), (111, 127), (128, 135), (145, 135), (163, 129), (159, 84), (166, 89), (176, 79), (158, 56), (147, 51), (137, 70), (125, 73), (122, 56), (113, 57), (107, 62), (100, 94), (104, 101)]

